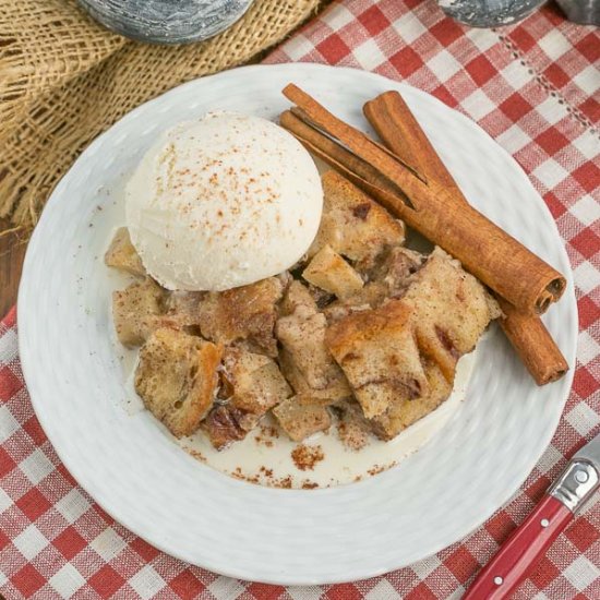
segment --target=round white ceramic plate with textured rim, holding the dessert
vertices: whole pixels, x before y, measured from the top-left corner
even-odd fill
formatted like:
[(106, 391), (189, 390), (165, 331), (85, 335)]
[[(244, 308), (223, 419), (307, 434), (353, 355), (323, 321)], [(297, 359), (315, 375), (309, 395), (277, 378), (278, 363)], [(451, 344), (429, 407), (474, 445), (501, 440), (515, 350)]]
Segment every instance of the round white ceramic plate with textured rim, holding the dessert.
[(566, 275), (544, 321), (572, 367), (577, 316), (561, 238), (527, 177), (470, 120), (406, 85), (312, 64), (236, 69), (143, 105), (91, 144), (44, 211), (19, 296), (21, 359), (41, 425), (82, 487), (152, 544), (221, 574), (302, 585), (408, 565), (480, 525), (549, 444), (573, 370), (537, 387), (493, 328), (467, 400), (433, 441), (389, 471), (325, 490), (236, 481), (188, 456), (147, 412), (128, 415), (101, 260), (123, 223), (119, 190), (165, 128), (215, 109), (275, 118), (288, 82), (363, 128), (363, 103), (400, 91), (469, 201)]

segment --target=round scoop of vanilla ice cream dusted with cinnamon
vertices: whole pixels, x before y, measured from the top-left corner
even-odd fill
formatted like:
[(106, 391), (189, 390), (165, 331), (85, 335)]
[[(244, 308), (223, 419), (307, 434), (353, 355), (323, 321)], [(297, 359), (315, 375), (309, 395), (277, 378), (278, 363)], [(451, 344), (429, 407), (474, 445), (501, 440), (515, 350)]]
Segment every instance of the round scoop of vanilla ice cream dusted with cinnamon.
[(292, 266), (319, 229), (310, 154), (278, 125), (213, 112), (168, 131), (125, 189), (131, 240), (167, 289), (224, 290)]

